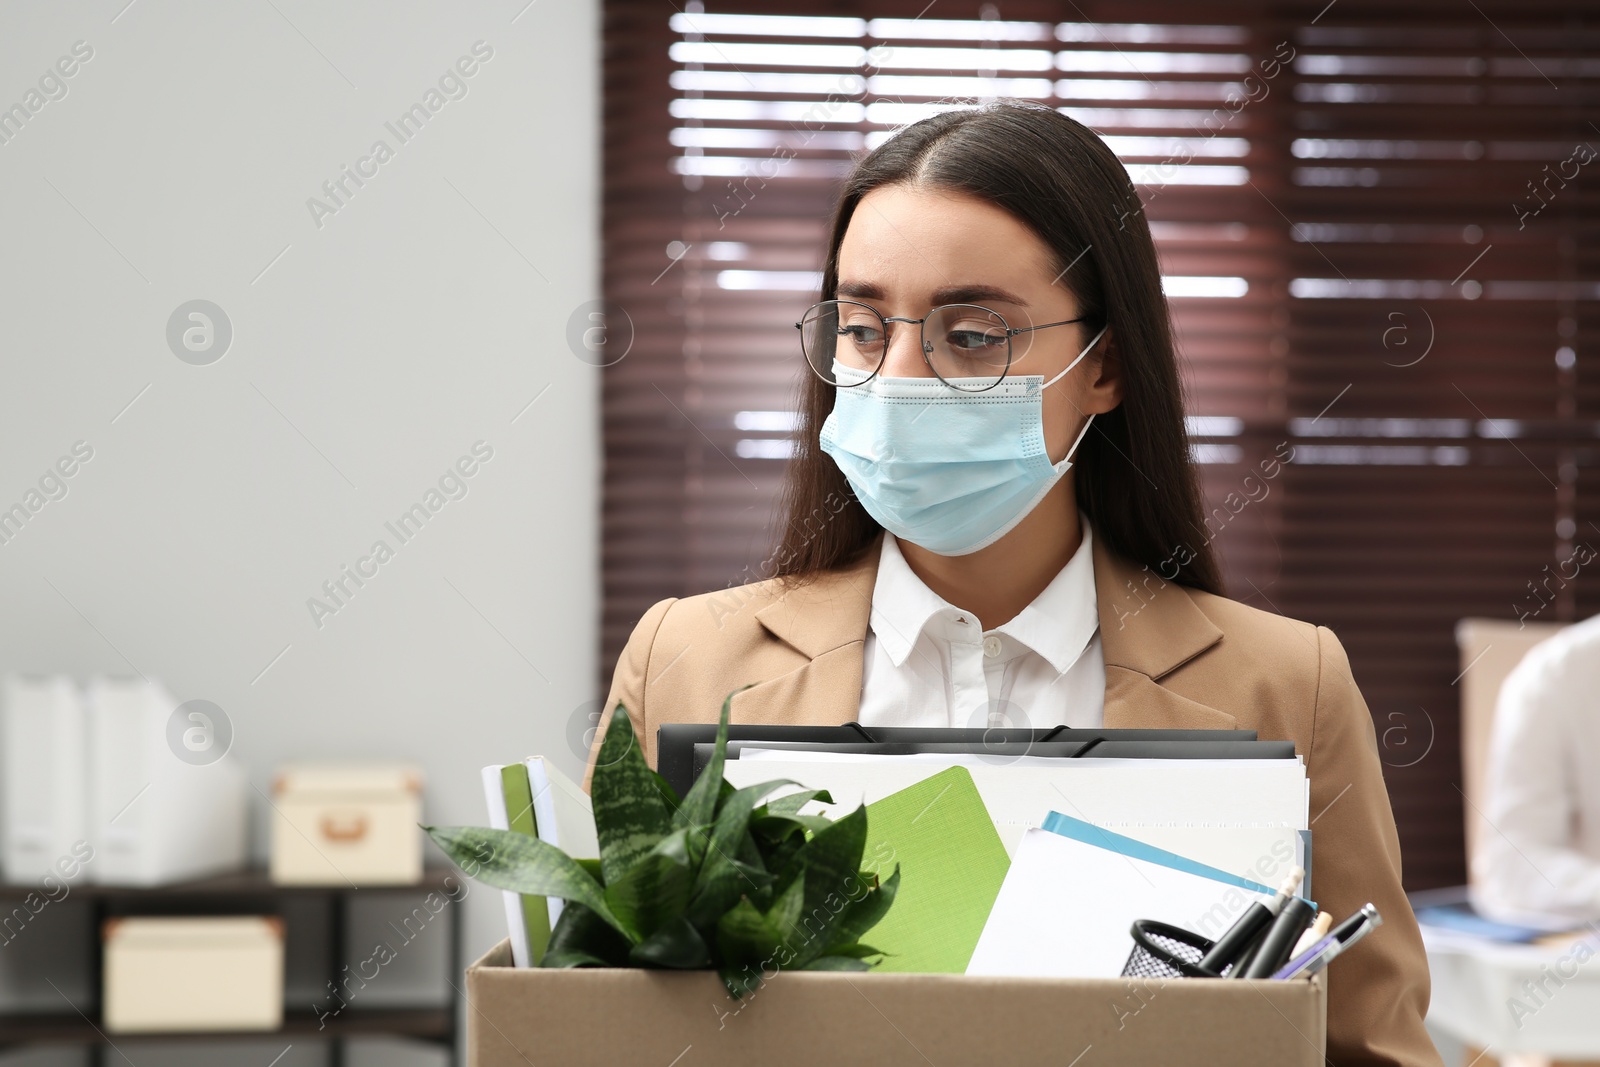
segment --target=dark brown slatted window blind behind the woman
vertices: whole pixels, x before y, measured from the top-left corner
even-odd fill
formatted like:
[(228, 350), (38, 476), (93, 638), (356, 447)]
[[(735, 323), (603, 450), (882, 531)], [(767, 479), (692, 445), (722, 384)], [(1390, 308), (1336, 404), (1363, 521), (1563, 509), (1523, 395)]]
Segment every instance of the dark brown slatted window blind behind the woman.
[(1459, 883), (1456, 621), (1600, 611), (1600, 561), (1573, 563), (1600, 552), (1597, 22), (1506, 0), (608, 3), (606, 677), (653, 601), (763, 574), (790, 323), (851, 158), (938, 107), (1046, 102), (1144, 200), (1230, 593), (1338, 632), (1406, 883)]

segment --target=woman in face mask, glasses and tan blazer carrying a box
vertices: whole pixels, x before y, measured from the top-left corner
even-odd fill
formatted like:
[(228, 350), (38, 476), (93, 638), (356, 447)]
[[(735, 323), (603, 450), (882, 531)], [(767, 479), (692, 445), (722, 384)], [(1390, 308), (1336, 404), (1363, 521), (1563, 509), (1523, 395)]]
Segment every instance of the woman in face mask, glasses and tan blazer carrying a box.
[(653, 606), (606, 709), (651, 763), (659, 723), (715, 721), (747, 683), (738, 723), (1293, 739), (1318, 904), (1386, 918), (1328, 973), (1330, 1061), (1438, 1062), (1366, 704), (1331, 632), (1221, 595), (1117, 157), (1038, 106), (907, 126), (845, 182), (822, 298), (776, 576)]

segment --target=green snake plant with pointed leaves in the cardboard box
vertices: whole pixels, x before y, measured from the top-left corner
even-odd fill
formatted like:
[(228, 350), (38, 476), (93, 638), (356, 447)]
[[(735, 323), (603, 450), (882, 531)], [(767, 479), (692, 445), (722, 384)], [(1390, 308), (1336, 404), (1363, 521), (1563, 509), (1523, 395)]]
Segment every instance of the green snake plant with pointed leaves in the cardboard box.
[(826, 790), (765, 800), (798, 782), (728, 784), (731, 702), (682, 800), (616, 705), (590, 781), (598, 861), (510, 830), (422, 829), (474, 878), (565, 901), (539, 966), (715, 969), (733, 998), (763, 971), (869, 969), (882, 953), (861, 937), (893, 904), (899, 867), (883, 880), (861, 870), (866, 806), (829, 819), (800, 813), (810, 800), (832, 803)]

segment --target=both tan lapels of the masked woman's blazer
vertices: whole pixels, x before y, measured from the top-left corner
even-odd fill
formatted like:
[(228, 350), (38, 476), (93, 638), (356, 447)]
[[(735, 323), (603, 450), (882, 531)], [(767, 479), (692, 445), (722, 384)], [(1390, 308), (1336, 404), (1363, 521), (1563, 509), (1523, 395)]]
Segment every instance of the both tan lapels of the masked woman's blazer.
[[(861, 712), (861, 659), (882, 539), (859, 561), (797, 585), (755, 613), (797, 653), (795, 670), (733, 697), (734, 721), (837, 725)], [(1094, 539), (1094, 592), (1106, 659), (1107, 728), (1232, 729), (1227, 712), (1173, 693), (1160, 678), (1222, 640), (1182, 587), (1136, 568)]]

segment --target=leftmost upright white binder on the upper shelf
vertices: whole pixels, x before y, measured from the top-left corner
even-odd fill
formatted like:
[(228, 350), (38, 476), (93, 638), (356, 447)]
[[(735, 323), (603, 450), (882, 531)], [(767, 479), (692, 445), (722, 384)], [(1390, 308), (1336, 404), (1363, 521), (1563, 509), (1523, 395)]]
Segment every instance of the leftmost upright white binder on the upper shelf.
[(88, 837), (83, 696), (66, 675), (13, 673), (0, 689), (5, 878), (59, 878)]

